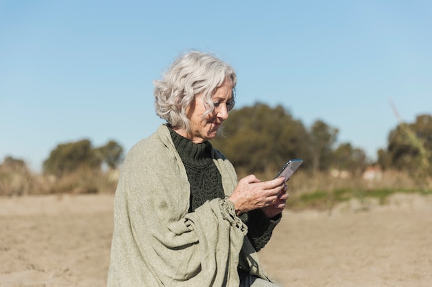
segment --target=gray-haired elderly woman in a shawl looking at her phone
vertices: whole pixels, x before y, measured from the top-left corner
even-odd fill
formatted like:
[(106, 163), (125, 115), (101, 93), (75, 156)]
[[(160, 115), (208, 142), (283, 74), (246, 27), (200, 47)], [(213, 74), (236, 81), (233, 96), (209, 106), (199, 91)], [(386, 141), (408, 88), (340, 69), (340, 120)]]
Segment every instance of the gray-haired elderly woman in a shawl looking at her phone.
[(128, 152), (115, 193), (108, 286), (275, 286), (257, 251), (279, 222), (284, 178), (237, 181), (208, 140), (234, 107), (237, 76), (188, 52), (155, 81), (166, 120)]

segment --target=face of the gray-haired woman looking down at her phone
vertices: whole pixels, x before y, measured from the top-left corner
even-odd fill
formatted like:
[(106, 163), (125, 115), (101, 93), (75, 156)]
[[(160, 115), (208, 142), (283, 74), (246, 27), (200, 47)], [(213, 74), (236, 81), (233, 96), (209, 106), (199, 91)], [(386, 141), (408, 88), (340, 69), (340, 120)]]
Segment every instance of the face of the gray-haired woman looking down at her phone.
[(213, 104), (215, 105), (215, 109), (203, 118), (206, 112), (204, 95), (199, 94), (195, 96), (195, 100), (190, 103), (186, 111), (186, 116), (190, 120), (190, 132), (188, 134), (184, 131), (177, 132), (195, 143), (215, 138), (222, 122), (228, 118), (228, 110), (234, 104), (233, 80), (231, 78), (226, 78), (224, 83), (216, 89), (213, 95)]

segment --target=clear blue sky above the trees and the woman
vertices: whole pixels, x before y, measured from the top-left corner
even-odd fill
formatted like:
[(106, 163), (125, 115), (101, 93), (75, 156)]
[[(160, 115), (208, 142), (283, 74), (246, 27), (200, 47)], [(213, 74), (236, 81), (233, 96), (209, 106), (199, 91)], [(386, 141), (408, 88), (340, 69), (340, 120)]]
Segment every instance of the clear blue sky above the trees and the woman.
[[(160, 123), (153, 80), (184, 50), (237, 70), (237, 107), (281, 104), (370, 158), (397, 118), (432, 114), (432, 1), (0, 0), (0, 160)], [(283, 123), (281, 123), (283, 125)]]

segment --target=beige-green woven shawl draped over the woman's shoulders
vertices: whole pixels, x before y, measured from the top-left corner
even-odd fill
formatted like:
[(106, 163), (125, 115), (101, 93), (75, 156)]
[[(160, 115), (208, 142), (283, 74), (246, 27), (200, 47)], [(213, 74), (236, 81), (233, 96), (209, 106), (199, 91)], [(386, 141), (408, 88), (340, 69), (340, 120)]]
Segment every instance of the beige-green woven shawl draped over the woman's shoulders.
[[(237, 185), (233, 165), (213, 158), (226, 195)], [(268, 279), (247, 227), (228, 200), (188, 213), (186, 170), (165, 125), (129, 151), (115, 193), (108, 287), (239, 286), (237, 266)]]

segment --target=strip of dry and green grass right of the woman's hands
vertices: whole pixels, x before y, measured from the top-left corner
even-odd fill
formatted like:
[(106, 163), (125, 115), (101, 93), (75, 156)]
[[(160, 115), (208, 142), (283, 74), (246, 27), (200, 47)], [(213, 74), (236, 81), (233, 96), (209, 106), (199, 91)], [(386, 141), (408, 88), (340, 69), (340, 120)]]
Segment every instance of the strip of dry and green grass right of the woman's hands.
[[(275, 171), (257, 173), (262, 180), (270, 180)], [(243, 175), (239, 175), (242, 177)], [(333, 206), (348, 200), (364, 202), (369, 199), (385, 204), (394, 193), (432, 194), (432, 179), (415, 178), (407, 172), (384, 171), (380, 177), (366, 180), (362, 174), (334, 177), (331, 173), (308, 173), (297, 171), (288, 181), (290, 199), (287, 206), (291, 210), (320, 209), (331, 211)]]

